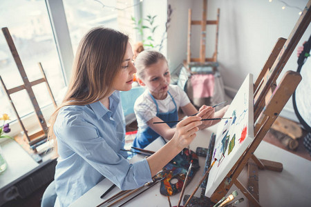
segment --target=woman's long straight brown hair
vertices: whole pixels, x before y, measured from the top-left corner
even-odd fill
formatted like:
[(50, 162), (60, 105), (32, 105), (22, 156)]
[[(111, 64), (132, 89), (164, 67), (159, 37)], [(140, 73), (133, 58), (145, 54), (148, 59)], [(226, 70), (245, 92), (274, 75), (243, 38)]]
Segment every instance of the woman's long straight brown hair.
[(129, 37), (104, 27), (92, 28), (79, 43), (68, 91), (61, 106), (50, 118), (48, 139), (56, 137), (53, 126), (59, 109), (64, 106), (86, 105), (103, 99), (112, 90), (113, 79), (121, 70)]

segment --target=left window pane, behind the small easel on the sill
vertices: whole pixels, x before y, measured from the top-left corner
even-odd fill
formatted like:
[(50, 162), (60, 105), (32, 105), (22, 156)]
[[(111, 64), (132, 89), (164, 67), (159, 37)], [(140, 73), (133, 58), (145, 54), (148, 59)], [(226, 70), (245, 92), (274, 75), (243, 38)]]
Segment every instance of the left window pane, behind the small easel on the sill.
[[(10, 31), (29, 81), (42, 78), (38, 66), (40, 62), (53, 95), (57, 97), (65, 83), (45, 1), (1, 0), (0, 17), (0, 26), (7, 27)], [(23, 85), (3, 32), (0, 34), (0, 75), (8, 89)], [(7, 113), (13, 121), (17, 117), (6, 93), (0, 88), (0, 113)], [(40, 108), (52, 103), (45, 83), (32, 87), (32, 90)], [(26, 90), (15, 92), (11, 98), (19, 117), (34, 111)], [(48, 121), (48, 117), (44, 115), (44, 118)], [(18, 126), (17, 128), (21, 130)]]

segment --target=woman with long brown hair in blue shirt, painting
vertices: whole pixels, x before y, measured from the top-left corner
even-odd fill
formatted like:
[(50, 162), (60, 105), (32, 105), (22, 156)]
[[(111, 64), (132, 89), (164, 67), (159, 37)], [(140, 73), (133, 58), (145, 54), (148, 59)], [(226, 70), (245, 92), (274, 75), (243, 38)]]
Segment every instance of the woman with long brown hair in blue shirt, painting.
[(48, 136), (57, 141), (55, 206), (69, 206), (104, 177), (122, 190), (138, 188), (196, 137), (200, 117), (176, 127), (171, 141), (147, 159), (129, 164), (119, 90), (130, 90), (133, 52), (129, 37), (93, 28), (80, 41), (73, 75), (62, 106), (51, 119)]

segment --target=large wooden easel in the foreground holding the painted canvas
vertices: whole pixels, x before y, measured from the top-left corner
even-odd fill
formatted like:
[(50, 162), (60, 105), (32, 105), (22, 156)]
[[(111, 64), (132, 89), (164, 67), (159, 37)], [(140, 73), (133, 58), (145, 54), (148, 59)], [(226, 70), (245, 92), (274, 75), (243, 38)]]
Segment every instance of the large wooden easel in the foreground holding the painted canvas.
[[(256, 168), (277, 172), (283, 170), (281, 163), (258, 159), (254, 155), (254, 151), (301, 81), (301, 75), (298, 72), (288, 71), (283, 76), (283, 79), (281, 79), (279, 86), (276, 86), (276, 79), (279, 77), (281, 70), (283, 70), (285, 63), (290, 58), (290, 55), (292, 55), (299, 39), (301, 39), (301, 36), (311, 21), (310, 5), (311, 0), (305, 6), (290, 37), (287, 40), (280, 38), (276, 42), (270, 57), (267, 59), (263, 70), (261, 70), (260, 75), (254, 83), (254, 141), (252, 141), (252, 144), (245, 150), (243, 156), (238, 159), (234, 167), (232, 167), (225, 179), (223, 179), (213, 195), (211, 195), (210, 199), (215, 203), (222, 199), (232, 185), (235, 184), (254, 206), (260, 206), (258, 172)], [(249, 177), (253, 178), (249, 179), (247, 188), (238, 181), (238, 175), (240, 175), (246, 164), (249, 167)], [(253, 173), (252, 170), (255, 172)]]

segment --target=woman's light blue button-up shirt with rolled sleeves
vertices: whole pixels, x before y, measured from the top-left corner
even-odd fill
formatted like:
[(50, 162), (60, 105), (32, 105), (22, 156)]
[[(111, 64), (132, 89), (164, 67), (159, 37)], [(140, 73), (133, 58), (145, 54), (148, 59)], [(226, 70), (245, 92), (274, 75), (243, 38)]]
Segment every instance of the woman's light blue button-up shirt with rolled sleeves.
[(124, 149), (125, 121), (120, 94), (109, 97), (110, 110), (100, 101), (65, 106), (54, 125), (59, 158), (55, 172), (57, 203), (68, 206), (104, 177), (122, 190), (151, 181), (146, 159), (129, 164)]

